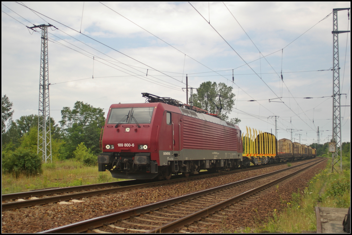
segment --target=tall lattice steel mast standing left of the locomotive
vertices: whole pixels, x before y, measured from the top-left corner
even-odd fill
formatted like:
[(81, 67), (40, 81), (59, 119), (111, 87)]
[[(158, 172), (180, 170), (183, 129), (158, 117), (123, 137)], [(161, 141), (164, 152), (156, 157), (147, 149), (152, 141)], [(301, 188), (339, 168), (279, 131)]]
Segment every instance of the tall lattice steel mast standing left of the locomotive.
[(38, 109), (38, 155), (41, 154), (43, 162), (52, 161), (51, 156), (51, 125), (49, 106), (49, 71), (48, 71), (48, 27), (53, 25), (41, 24), (30, 27), (42, 29), (42, 52), (40, 58), (39, 80), (39, 109)]

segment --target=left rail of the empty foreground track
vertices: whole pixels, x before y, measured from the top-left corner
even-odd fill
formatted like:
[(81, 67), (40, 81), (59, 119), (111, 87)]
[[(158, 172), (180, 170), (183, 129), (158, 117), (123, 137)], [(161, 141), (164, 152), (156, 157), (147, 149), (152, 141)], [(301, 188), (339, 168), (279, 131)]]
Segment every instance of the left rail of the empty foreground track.
[[(103, 226), (106, 223), (114, 223), (114, 222), (118, 221), (119, 219), (127, 219), (127, 218), (130, 218), (131, 216), (136, 216), (136, 215), (140, 215), (141, 213), (145, 213), (147, 211), (153, 211), (153, 210), (159, 209), (160, 207), (167, 207), (168, 205), (172, 205), (172, 204), (175, 204), (175, 203), (178, 203), (178, 202), (181, 202), (181, 201), (186, 201), (186, 200), (189, 200), (189, 199), (198, 198), (198, 197), (201, 197), (202, 195), (205, 195), (205, 194), (209, 194), (209, 193), (213, 193), (213, 192), (216, 192), (216, 191), (220, 191), (220, 190), (228, 188), (228, 187), (233, 187), (233, 186), (236, 186), (236, 185), (240, 185), (240, 184), (245, 183), (245, 182), (257, 180), (257, 179), (260, 179), (260, 178), (263, 178), (263, 177), (267, 177), (267, 176), (270, 176), (270, 175), (273, 175), (273, 174), (280, 173), (280, 172), (285, 171), (285, 170), (293, 169), (293, 168), (300, 167), (300, 166), (308, 164), (308, 163), (319, 161), (317, 163), (312, 164), (312, 165), (315, 165), (315, 164), (318, 164), (318, 163), (320, 163), (320, 162), (322, 162), (324, 160), (325, 159), (322, 159), (322, 160), (321, 159), (316, 159), (315, 161), (302, 163), (302, 164), (299, 164), (299, 165), (295, 165), (293, 167), (288, 167), (288, 168), (285, 168), (285, 169), (273, 171), (271, 173), (266, 173), (266, 174), (263, 174), (263, 175), (254, 176), (254, 177), (251, 177), (251, 178), (248, 178), (248, 179), (244, 179), (244, 180), (228, 183), (226, 185), (221, 185), (221, 186), (210, 188), (210, 189), (205, 189), (205, 190), (202, 190), (202, 191), (199, 191), (199, 192), (195, 192), (195, 193), (190, 193), (190, 194), (187, 194), (187, 195), (182, 195), (182, 196), (179, 196), (179, 197), (176, 197), (176, 198), (171, 198), (171, 199), (160, 201), (160, 202), (157, 202), (157, 203), (152, 203), (152, 204), (149, 204), (149, 205), (139, 206), (139, 207), (136, 207), (136, 208), (133, 208), (133, 209), (129, 209), (129, 210), (112, 213), (110, 215), (105, 215), (105, 216), (100, 216), (100, 217), (96, 217), (96, 218), (92, 218), (92, 219), (87, 219), (85, 221), (76, 222), (76, 223), (73, 223), (73, 224), (64, 225), (62, 227), (45, 230), (45, 231), (42, 231), (40, 233), (81, 233), (81, 232), (87, 231), (88, 228), (98, 228), (98, 227)], [(311, 167), (312, 165), (309, 165), (308, 167)]]

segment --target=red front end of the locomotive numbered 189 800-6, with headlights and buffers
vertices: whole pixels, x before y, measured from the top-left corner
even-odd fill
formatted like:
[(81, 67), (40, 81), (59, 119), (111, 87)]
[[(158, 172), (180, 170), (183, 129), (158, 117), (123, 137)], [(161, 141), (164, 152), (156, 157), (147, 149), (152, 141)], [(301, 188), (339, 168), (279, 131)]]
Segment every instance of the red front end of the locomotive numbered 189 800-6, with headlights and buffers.
[(113, 104), (102, 135), (99, 171), (114, 178), (153, 179), (158, 175), (153, 104)]

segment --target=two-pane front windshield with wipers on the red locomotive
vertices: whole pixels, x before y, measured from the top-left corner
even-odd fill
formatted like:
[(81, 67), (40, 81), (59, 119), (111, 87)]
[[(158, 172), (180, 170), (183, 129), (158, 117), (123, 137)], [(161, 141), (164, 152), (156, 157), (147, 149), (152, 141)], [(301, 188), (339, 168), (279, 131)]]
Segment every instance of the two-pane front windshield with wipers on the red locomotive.
[(154, 107), (112, 108), (108, 124), (115, 123), (150, 123)]

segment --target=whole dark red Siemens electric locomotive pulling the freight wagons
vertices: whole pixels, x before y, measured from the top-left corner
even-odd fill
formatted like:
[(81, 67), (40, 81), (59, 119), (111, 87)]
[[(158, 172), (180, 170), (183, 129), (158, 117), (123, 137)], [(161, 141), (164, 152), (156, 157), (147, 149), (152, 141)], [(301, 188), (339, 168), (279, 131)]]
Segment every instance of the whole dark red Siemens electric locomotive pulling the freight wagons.
[(143, 93), (149, 103), (112, 104), (101, 139), (99, 171), (114, 178), (170, 179), (242, 163), (240, 128), (206, 110)]

